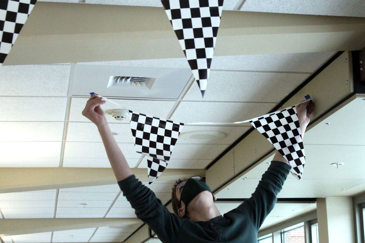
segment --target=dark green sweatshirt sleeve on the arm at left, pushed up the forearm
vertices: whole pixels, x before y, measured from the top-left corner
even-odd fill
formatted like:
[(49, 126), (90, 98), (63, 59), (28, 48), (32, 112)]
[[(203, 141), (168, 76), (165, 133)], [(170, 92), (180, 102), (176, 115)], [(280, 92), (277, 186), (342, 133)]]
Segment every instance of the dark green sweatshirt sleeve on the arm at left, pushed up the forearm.
[(162, 204), (153, 191), (143, 185), (135, 175), (119, 181), (118, 185), (138, 219), (146, 223), (162, 242), (174, 242), (183, 220)]

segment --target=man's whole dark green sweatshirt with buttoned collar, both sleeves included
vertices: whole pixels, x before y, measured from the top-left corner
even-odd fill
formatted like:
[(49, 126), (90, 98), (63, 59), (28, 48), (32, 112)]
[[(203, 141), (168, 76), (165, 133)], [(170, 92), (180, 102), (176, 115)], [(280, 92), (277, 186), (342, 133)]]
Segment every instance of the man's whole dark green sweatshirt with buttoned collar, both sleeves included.
[(155, 193), (134, 175), (118, 184), (138, 219), (145, 222), (164, 243), (255, 243), (257, 231), (273, 209), (290, 169), (288, 164), (272, 161), (249, 199), (208, 222), (192, 222), (170, 213)]

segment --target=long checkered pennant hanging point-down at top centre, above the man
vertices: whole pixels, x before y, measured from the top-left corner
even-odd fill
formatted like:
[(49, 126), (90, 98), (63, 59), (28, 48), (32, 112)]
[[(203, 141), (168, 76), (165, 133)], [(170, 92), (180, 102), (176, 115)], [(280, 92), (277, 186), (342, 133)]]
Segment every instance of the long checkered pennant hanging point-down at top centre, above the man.
[(207, 89), (223, 0), (161, 0), (201, 95)]

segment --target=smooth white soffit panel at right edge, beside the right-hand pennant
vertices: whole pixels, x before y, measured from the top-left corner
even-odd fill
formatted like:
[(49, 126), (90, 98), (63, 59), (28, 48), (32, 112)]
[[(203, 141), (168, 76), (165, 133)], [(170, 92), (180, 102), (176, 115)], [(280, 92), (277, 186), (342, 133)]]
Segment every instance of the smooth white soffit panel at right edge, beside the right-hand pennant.
[[(306, 144), (365, 145), (363, 98), (357, 98), (324, 119), (304, 135)], [(330, 125), (326, 125), (329, 123)], [(349, 156), (348, 153), (343, 156)]]

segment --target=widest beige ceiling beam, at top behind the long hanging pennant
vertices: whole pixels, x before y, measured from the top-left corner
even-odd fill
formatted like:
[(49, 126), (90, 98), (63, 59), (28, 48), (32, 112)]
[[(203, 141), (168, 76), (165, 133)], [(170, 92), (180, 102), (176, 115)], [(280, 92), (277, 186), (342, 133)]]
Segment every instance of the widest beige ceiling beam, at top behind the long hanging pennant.
[[(216, 56), (361, 50), (365, 18), (223, 11)], [(164, 8), (38, 2), (4, 65), (184, 57)]]

